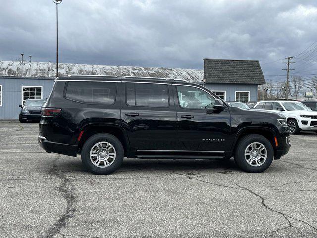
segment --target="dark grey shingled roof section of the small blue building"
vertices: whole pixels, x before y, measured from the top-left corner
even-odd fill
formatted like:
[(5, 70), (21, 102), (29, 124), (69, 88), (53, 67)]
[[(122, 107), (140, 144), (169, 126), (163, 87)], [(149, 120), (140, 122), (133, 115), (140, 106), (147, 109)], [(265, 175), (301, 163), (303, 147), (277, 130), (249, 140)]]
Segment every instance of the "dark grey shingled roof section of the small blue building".
[(206, 83), (265, 84), (258, 60), (204, 59)]

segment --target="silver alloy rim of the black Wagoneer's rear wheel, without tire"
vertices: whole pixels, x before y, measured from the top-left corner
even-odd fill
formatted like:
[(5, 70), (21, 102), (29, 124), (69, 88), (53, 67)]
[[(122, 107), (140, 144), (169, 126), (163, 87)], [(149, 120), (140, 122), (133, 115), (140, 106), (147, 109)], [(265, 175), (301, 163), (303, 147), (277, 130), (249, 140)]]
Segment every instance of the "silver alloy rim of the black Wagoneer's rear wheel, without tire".
[(90, 160), (93, 165), (105, 168), (110, 166), (116, 157), (116, 151), (112, 144), (106, 141), (98, 142), (90, 150)]

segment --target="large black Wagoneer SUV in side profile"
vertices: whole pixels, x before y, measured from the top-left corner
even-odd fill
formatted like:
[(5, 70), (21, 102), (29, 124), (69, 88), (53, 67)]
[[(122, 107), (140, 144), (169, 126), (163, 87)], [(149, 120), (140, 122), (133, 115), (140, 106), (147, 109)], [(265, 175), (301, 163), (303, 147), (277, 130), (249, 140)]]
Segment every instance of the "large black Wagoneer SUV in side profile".
[(81, 154), (85, 167), (109, 174), (123, 157), (229, 159), (262, 172), (290, 148), (284, 116), (228, 106), (185, 80), (69, 76), (55, 80), (42, 107), (39, 144)]

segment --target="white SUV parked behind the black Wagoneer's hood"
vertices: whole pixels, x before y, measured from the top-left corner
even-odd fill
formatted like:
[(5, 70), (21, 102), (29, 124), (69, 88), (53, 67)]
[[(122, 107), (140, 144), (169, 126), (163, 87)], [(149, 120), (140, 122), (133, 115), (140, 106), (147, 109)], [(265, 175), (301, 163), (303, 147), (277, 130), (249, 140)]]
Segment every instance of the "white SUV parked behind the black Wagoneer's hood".
[(297, 134), (300, 130), (317, 133), (317, 112), (301, 102), (260, 101), (254, 108), (283, 114), (287, 119), (291, 134)]

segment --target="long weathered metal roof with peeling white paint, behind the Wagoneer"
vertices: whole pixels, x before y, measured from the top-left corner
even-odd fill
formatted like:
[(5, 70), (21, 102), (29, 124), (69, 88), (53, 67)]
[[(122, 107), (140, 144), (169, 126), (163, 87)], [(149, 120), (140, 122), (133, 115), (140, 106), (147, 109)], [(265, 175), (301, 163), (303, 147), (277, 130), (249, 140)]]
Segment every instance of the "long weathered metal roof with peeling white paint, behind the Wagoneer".
[[(201, 82), (203, 80), (204, 71), (182, 68), (106, 66), (73, 63), (58, 64), (59, 76), (68, 76), (70, 74), (155, 77), (184, 79), (188, 82)], [(55, 75), (55, 63), (25, 62), (22, 65), (22, 63), (18, 61), (0, 61), (0, 76), (54, 78)]]

